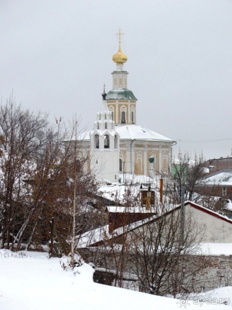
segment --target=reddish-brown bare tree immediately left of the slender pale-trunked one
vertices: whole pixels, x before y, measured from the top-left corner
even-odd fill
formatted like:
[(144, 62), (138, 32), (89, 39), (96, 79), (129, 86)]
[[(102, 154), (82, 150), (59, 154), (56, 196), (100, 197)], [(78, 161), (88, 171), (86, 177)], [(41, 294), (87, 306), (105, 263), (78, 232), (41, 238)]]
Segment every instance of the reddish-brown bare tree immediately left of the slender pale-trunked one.
[(59, 136), (59, 129), (49, 129), (46, 138), (34, 169), (30, 169), (24, 179), (28, 196), (25, 197), (24, 218), (15, 237), (16, 250), (20, 249), (22, 241), (29, 249), (32, 243), (48, 240), (51, 217), (56, 218), (57, 228), (62, 226), (62, 233), (67, 236), (69, 222), (64, 208), (67, 159), (62, 147), (63, 136)]

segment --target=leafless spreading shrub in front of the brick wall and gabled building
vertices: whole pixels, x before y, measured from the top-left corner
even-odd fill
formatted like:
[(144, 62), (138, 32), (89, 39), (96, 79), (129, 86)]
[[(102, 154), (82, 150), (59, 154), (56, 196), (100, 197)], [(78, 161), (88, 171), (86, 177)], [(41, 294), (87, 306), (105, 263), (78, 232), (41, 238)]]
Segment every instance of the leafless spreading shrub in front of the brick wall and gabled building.
[[(188, 271), (188, 255), (194, 253), (203, 237), (203, 228), (189, 214), (185, 218), (184, 238), (181, 236), (179, 210), (168, 211), (160, 205), (161, 215), (131, 235), (134, 272), (141, 292), (174, 297), (193, 292), (197, 270)], [(199, 270), (203, 265), (198, 266)]]

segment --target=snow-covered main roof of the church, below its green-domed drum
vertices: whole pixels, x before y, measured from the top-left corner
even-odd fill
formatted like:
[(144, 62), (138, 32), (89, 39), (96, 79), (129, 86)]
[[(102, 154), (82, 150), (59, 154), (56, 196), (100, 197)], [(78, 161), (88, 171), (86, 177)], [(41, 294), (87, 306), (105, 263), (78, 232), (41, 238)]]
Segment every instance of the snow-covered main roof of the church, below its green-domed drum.
[[(170, 138), (160, 135), (140, 125), (115, 125), (115, 131), (119, 134), (121, 140), (175, 142)], [(90, 131), (83, 132), (78, 137), (78, 140), (89, 140), (89, 134)]]

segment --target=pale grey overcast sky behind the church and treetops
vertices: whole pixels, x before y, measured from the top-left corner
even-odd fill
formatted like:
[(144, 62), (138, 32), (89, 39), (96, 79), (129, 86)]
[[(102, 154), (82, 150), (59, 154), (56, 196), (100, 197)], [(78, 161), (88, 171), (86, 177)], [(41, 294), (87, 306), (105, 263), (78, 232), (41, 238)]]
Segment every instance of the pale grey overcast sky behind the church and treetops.
[(0, 95), (92, 128), (125, 33), (137, 125), (206, 159), (232, 149), (231, 0), (1, 0)]

